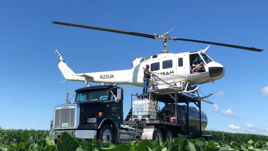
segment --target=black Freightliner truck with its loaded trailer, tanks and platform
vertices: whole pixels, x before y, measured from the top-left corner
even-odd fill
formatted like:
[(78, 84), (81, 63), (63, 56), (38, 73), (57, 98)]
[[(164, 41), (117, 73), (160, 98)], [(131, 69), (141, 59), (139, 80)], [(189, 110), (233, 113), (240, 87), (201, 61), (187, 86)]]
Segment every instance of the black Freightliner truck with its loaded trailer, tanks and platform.
[[(186, 138), (212, 139), (202, 131), (207, 117), (201, 111), (201, 101), (178, 92), (131, 95), (131, 109), (123, 120), (123, 89), (117, 85), (97, 85), (75, 90), (74, 103), (54, 108), (50, 139), (57, 143), (63, 132), (79, 139), (98, 139), (116, 143), (149, 140), (172, 140), (178, 134)], [(199, 109), (189, 107), (194, 103)], [(158, 104), (164, 103), (162, 109)], [(185, 103), (178, 105), (178, 103)], [(127, 126), (126, 126), (127, 125)]]

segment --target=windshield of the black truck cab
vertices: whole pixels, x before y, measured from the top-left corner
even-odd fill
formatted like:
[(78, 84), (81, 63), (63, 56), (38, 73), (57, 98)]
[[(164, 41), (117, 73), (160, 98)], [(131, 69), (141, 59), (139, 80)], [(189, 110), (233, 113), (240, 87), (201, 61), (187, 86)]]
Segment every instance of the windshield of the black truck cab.
[(90, 91), (90, 92), (76, 92), (75, 102), (96, 101), (108, 99), (109, 90)]

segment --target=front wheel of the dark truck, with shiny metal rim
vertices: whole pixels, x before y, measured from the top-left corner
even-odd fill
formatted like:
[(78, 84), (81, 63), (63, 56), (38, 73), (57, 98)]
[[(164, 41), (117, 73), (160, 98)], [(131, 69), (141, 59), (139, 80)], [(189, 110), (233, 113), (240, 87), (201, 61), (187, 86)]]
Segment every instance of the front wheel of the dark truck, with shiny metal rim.
[(100, 139), (103, 143), (114, 143), (114, 133), (109, 125), (104, 125), (102, 127)]

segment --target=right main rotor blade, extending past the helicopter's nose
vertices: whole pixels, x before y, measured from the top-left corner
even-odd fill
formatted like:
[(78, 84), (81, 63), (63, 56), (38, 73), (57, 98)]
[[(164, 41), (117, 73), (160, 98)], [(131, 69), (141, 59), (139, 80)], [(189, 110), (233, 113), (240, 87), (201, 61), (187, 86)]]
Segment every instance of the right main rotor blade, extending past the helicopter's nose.
[(229, 44), (222, 44), (222, 43), (209, 42), (209, 41), (200, 41), (200, 40), (193, 40), (193, 39), (174, 38), (174, 40), (199, 42), (199, 43), (204, 43), (204, 44), (219, 45), (219, 46), (232, 47), (232, 48), (238, 48), (238, 49), (245, 49), (245, 50), (257, 51), (257, 52), (263, 51), (263, 49), (256, 49), (256, 48), (253, 48), (253, 47), (244, 47), (244, 46), (229, 45)]

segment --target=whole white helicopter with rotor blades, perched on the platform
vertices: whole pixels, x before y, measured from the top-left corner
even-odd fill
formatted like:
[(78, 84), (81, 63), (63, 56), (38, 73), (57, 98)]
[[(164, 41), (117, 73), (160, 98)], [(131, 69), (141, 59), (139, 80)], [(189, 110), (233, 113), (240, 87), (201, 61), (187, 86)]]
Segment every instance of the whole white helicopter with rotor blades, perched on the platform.
[[(90, 28), (95, 30), (103, 30), (114, 33), (129, 34), (140, 37), (147, 37), (152, 39), (163, 39), (164, 48), (161, 54), (136, 58), (132, 62), (132, 69), (128, 70), (118, 70), (118, 71), (104, 71), (104, 72), (92, 72), (92, 73), (80, 73), (76, 74), (73, 72), (65, 63), (62, 56), (56, 50), (55, 52), (60, 58), (58, 64), (62, 75), (66, 80), (71, 81), (88, 81), (97, 83), (108, 83), (108, 84), (131, 84), (139, 87), (143, 86), (143, 70), (148, 64), (150, 66), (150, 72), (153, 78), (150, 81), (150, 86), (156, 91), (170, 91), (170, 89), (176, 89), (180, 93), (195, 92), (200, 87), (196, 87), (197, 84), (203, 84), (207, 82), (214, 83), (215, 80), (222, 78), (225, 74), (225, 68), (222, 64), (215, 62), (211, 57), (209, 57), (205, 52), (209, 48), (196, 51), (196, 52), (185, 52), (185, 53), (169, 53), (167, 51), (167, 42), (169, 40), (181, 40), (181, 41), (192, 41), (205, 44), (213, 44), (220, 46), (227, 46), (232, 48), (246, 49), (256, 52), (261, 52), (263, 49), (256, 49), (250, 47), (222, 44), (216, 42), (199, 41), (193, 39), (183, 39), (177, 37), (169, 37), (169, 32), (163, 35), (157, 34), (145, 34), (137, 33), (132, 31), (116, 30), (111, 28), (87, 26), (81, 24), (65, 23), (53, 21), (54, 24), (61, 24), (66, 26), (75, 26), (82, 28)], [(192, 63), (196, 57), (199, 57), (198, 64), (202, 65), (202, 70), (196, 71), (193, 68)], [(215, 84), (215, 83), (214, 83)], [(211, 94), (210, 94), (211, 95)], [(210, 96), (208, 95), (208, 96)], [(207, 98), (203, 97), (203, 98)], [(198, 96), (199, 97), (199, 96)], [(200, 97), (199, 97), (200, 98)]]

